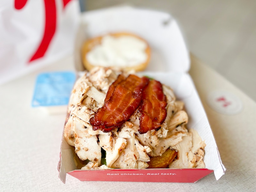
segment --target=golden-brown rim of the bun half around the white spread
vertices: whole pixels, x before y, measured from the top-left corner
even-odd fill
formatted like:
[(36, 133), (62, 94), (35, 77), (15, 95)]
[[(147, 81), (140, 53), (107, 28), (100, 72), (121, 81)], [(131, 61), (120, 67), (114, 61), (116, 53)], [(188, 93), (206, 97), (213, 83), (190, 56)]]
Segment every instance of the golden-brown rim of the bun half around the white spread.
[[(113, 37), (122, 37), (122, 36), (132, 36), (132, 37), (135, 37), (135, 38), (138, 38), (140, 40), (142, 40), (144, 43), (146, 43), (146, 49), (145, 49), (145, 53), (146, 53), (146, 60), (137, 64), (137, 65), (132, 65), (132, 66), (129, 66), (129, 64), (127, 63), (127, 65), (125, 66), (120, 66), (120, 68), (126, 70), (126, 71), (130, 71), (130, 70), (134, 70), (134, 71), (142, 71), (144, 70), (147, 66), (148, 66), (148, 63), (149, 63), (149, 60), (150, 60), (150, 47), (148, 45), (148, 42), (145, 41), (144, 39), (142, 39), (141, 37), (137, 36), (137, 35), (134, 35), (132, 33), (126, 33), (126, 32), (119, 32), (119, 33), (110, 33), (110, 34), (107, 34), (108, 36), (113, 36)], [(107, 36), (106, 35), (106, 36)], [(105, 36), (105, 35), (104, 35)], [(82, 56), (82, 62), (83, 62), (83, 65), (85, 67), (85, 69), (87, 70), (91, 70), (92, 68), (96, 67), (96, 66), (100, 66), (100, 65), (95, 65), (90, 63), (87, 59), (87, 54), (96, 46), (96, 45), (99, 45), (101, 44), (101, 40), (104, 36), (97, 36), (97, 37), (94, 37), (94, 38), (91, 38), (91, 39), (88, 39), (87, 41), (84, 42), (83, 44), (83, 47), (82, 47), (82, 52), (81, 52), (81, 56)], [(113, 65), (113, 66), (108, 66), (108, 67), (119, 67), (119, 66), (116, 66), (116, 65)]]

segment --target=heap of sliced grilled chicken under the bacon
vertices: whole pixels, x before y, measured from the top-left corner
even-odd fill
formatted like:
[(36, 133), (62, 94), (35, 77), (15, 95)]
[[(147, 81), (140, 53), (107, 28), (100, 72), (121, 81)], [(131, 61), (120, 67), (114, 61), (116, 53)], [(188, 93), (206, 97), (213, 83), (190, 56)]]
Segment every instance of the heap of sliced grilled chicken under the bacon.
[[(81, 160), (89, 160), (82, 169), (147, 168), (150, 156), (161, 156), (167, 148), (178, 151), (170, 168), (204, 167), (205, 143), (195, 130), (188, 131), (184, 103), (176, 101), (172, 89), (166, 85), (163, 85), (163, 92), (167, 116), (159, 130), (140, 134), (138, 110), (119, 129), (108, 133), (92, 130), (89, 120), (104, 105), (108, 88), (120, 73), (120, 70), (96, 67), (85, 72), (74, 85), (64, 137), (75, 147)], [(101, 149), (106, 151), (106, 165), (101, 164)]]

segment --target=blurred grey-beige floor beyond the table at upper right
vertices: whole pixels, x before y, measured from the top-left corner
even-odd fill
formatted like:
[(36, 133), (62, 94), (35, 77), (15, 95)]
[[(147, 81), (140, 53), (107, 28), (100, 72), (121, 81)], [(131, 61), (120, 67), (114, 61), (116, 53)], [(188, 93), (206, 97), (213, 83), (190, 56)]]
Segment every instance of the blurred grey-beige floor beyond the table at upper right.
[(81, 10), (132, 5), (170, 13), (188, 49), (256, 101), (255, 0), (80, 0)]

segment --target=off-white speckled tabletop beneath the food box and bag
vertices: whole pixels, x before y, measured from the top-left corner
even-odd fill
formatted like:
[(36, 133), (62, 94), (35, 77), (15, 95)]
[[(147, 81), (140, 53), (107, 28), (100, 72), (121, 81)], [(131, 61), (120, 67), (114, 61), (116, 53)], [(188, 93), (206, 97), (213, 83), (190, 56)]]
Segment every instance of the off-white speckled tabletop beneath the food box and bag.
[[(256, 191), (256, 103), (192, 56), (192, 76), (227, 171), (216, 181), (210, 174), (196, 183), (81, 182), (67, 174), (58, 178), (65, 113), (49, 115), (31, 108), (36, 76), (41, 72), (74, 70), (73, 58), (0, 86), (0, 191)], [(243, 110), (222, 115), (206, 103), (207, 94), (225, 89), (238, 96)]]

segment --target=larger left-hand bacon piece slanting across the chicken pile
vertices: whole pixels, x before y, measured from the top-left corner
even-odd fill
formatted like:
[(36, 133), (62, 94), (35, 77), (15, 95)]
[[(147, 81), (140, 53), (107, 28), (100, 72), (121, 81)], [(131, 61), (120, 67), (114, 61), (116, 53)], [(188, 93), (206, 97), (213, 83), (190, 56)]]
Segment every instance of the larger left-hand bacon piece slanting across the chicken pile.
[[(120, 77), (121, 78), (121, 77)], [(90, 119), (93, 130), (110, 132), (116, 127), (121, 127), (139, 107), (144, 87), (148, 84), (147, 77), (129, 75), (125, 80), (116, 80), (115, 86), (109, 92), (111, 97), (105, 100), (102, 108)], [(109, 93), (110, 94), (110, 93)], [(107, 95), (109, 95), (107, 93)]]

